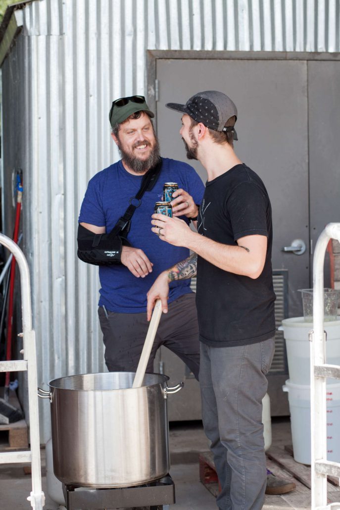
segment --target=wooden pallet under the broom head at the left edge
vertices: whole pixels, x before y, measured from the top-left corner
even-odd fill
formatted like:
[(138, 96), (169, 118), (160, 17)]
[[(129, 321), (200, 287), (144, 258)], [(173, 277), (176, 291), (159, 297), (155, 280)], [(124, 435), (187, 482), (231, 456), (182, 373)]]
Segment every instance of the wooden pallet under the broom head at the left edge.
[[(9, 403), (21, 409), (15, 392), (10, 392)], [(25, 420), (0, 424), (0, 451), (21, 450), (29, 447), (28, 426)]]

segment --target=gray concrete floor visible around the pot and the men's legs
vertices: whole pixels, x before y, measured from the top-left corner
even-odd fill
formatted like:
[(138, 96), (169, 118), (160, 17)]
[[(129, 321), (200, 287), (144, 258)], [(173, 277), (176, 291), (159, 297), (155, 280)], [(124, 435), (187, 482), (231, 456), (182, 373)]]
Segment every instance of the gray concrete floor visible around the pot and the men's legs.
[[(272, 422), (273, 444), (289, 444), (289, 419)], [(200, 422), (186, 422), (170, 426), (170, 474), (175, 483), (176, 510), (216, 510), (214, 496), (199, 480), (198, 454), (208, 450)], [(45, 510), (61, 510), (46, 492), (45, 451), (42, 449), (42, 487), (45, 493)], [(0, 466), (1, 510), (31, 508), (27, 497), (31, 492), (31, 476), (25, 475), (24, 465)], [(275, 506), (268, 506), (275, 508)]]

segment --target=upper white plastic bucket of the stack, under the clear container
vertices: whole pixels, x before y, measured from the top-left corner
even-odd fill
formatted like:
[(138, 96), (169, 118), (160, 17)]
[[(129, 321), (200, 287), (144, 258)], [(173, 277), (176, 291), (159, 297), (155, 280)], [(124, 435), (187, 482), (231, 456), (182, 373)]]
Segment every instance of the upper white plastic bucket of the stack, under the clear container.
[[(326, 362), (340, 365), (340, 320), (325, 322), (327, 333)], [(283, 337), (287, 350), (289, 380), (294, 384), (310, 384), (310, 344), (308, 333), (312, 324), (305, 322), (303, 317), (283, 319)]]

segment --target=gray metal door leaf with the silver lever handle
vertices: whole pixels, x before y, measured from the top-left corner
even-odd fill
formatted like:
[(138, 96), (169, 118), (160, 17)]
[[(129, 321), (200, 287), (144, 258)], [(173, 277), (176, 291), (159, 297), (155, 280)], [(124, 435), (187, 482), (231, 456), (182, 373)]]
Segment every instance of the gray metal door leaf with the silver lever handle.
[[(186, 160), (180, 114), (165, 107), (200, 90), (227, 93), (238, 108), (235, 150), (263, 179), (273, 209), (273, 268), (287, 269), (289, 314), (302, 314), (309, 287), (309, 249), (283, 252), (296, 239), (308, 246), (307, 63), (275, 60), (158, 60), (157, 129), (162, 155)], [(198, 162), (190, 162), (206, 180)]]

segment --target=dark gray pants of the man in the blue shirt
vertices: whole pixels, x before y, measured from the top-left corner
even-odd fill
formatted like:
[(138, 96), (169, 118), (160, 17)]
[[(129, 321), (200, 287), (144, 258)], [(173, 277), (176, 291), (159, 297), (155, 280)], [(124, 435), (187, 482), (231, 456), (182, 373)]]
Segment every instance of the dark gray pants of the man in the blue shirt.
[[(108, 316), (107, 316), (108, 315)], [(98, 316), (105, 344), (105, 362), (110, 372), (136, 372), (149, 327), (146, 313), (121, 314), (99, 307)], [(184, 294), (162, 314), (146, 368), (153, 372), (156, 351), (164, 345), (190, 368), (198, 379), (199, 340), (195, 294)]]

